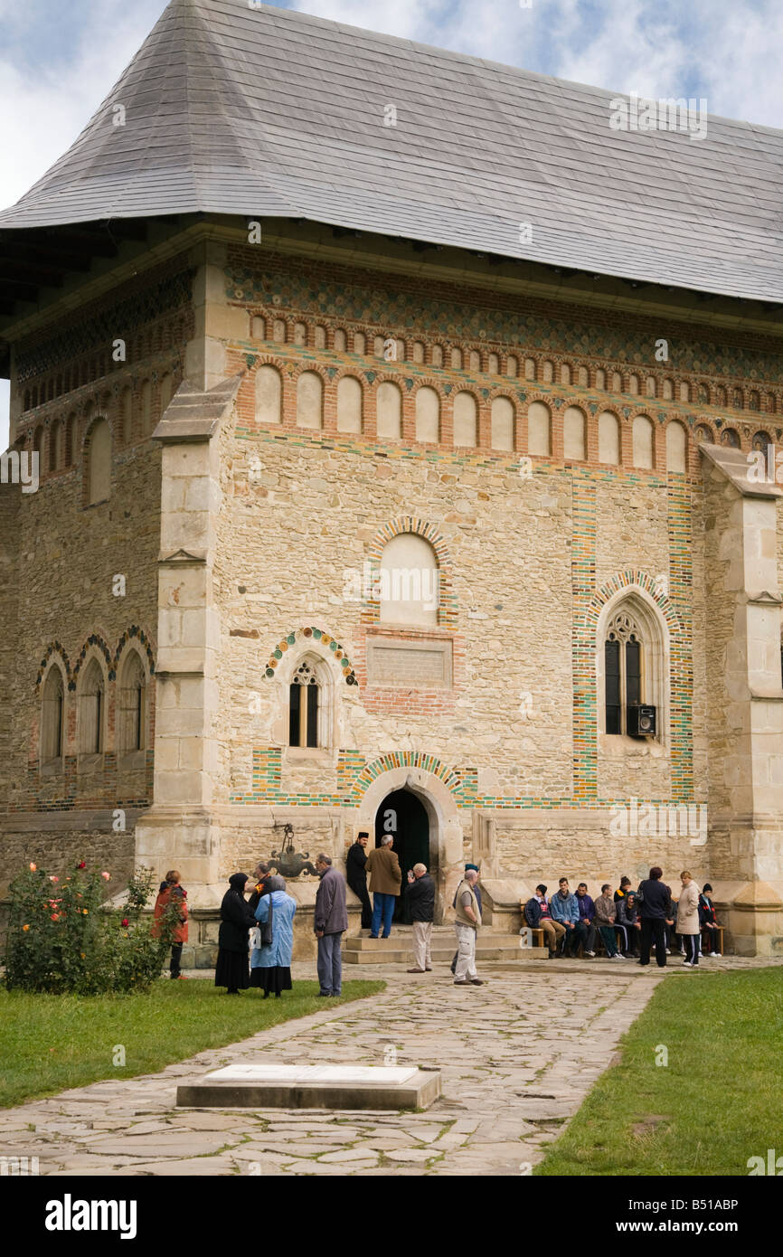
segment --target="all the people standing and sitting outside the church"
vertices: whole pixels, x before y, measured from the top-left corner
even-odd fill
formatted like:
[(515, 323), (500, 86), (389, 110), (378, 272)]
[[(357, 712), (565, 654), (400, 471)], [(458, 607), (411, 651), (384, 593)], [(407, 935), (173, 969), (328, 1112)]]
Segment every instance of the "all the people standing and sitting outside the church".
[[(334, 869), (331, 856), (319, 855), (315, 859), (319, 884), (313, 930), (318, 943), (318, 994), (324, 998), (342, 993), (342, 936), (348, 929), (346, 881), (362, 904), (362, 929), (370, 929), (373, 939), (390, 938), (395, 904), (405, 892), (406, 916), (413, 926), (413, 964), (407, 972), (432, 970), (435, 882), (424, 864), (415, 864), (403, 882), (400, 860), (393, 850), (393, 836), (385, 835), (380, 846), (370, 855), (366, 850), (368, 838), (368, 833), (359, 833), (348, 851), (346, 877)], [(720, 954), (713, 887), (705, 882), (699, 890), (691, 874), (685, 870), (680, 874), (679, 900), (674, 900), (662, 876), (662, 870), (656, 865), (637, 890), (632, 889), (630, 877), (621, 877), (617, 890), (605, 882), (596, 900), (591, 897), (583, 881), (573, 894), (568, 879), (561, 877), (552, 897), (547, 895), (547, 886), (539, 882), (535, 894), (524, 905), (520, 933), (527, 928), (543, 930), (550, 958), (576, 957), (579, 947), (586, 958), (594, 958), (600, 935), (611, 959), (637, 957), (637, 964), (647, 965), (655, 945), (660, 968), (666, 965), (666, 957), (675, 950), (684, 953), (685, 968), (696, 968), (701, 955)], [(297, 901), (288, 894), (285, 879), (273, 874), (263, 861), (259, 861), (253, 872), (253, 889), (248, 900), (245, 895), (249, 881), (245, 872), (235, 872), (229, 877), (229, 889), (220, 905), (215, 985), (225, 987), (230, 996), (239, 994), (248, 987), (256, 987), (264, 992), (264, 999), (270, 994), (279, 998), (284, 991), (292, 989)], [(372, 905), (370, 894), (373, 895)], [(187, 941), (187, 892), (176, 870), (170, 870), (161, 882), (155, 905), (156, 918), (163, 915), (172, 899), (180, 906), (180, 924), (173, 935), (170, 973), (172, 978), (182, 978), (180, 962), (182, 944)], [(456, 934), (456, 953), (451, 962), (454, 983), (457, 987), (484, 985), (476, 973), (475, 960), (476, 938), (481, 926), (478, 865), (465, 865), (451, 906)]]

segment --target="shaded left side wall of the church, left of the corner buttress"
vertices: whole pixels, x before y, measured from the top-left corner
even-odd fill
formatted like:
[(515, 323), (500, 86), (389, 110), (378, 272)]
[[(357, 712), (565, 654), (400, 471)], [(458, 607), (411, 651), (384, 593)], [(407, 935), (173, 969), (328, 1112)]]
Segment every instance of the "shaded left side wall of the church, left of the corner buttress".
[[(9, 525), (4, 562), (15, 564), (0, 590), (6, 881), (36, 842), (50, 864), (80, 855), (87, 841), (90, 857), (116, 857), (123, 876), (132, 866), (132, 833), (117, 835), (111, 823), (116, 810), (131, 815), (152, 798), (160, 449), (151, 434), (166, 403), (161, 390), (175, 390), (181, 378), (192, 331), (189, 292), (183, 260), (168, 263), (83, 309), (58, 313), (13, 349), (15, 447), (39, 449), (40, 481), (35, 493), (0, 490)], [(126, 349), (119, 362), (112, 358), (117, 337)], [(87, 446), (97, 419), (112, 434), (111, 493), (89, 505)], [(118, 689), (133, 650), (146, 676), (143, 749), (118, 757)], [(103, 753), (87, 757), (79, 754), (77, 708), (92, 659), (104, 686), (104, 739)], [(63, 754), (41, 764), (41, 693), (53, 666), (65, 685)], [(83, 810), (103, 811), (108, 832), (78, 822)], [(45, 838), (35, 836), (36, 817), (45, 820)]]

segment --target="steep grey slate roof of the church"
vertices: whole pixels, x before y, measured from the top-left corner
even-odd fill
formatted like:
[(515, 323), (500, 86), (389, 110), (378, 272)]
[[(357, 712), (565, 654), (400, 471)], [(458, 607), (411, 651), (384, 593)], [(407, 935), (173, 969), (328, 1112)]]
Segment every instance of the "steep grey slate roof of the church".
[(612, 97), (248, 0), (171, 0), (0, 229), (302, 217), (783, 300), (783, 132), (716, 117), (703, 141), (612, 131)]

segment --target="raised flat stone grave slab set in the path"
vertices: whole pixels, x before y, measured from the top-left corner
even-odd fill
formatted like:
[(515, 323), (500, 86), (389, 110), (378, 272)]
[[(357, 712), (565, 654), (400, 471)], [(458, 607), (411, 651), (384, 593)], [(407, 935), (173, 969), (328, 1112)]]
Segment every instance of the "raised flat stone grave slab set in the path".
[(180, 1084), (177, 1107), (427, 1109), (440, 1094), (440, 1072), (416, 1066), (248, 1061)]

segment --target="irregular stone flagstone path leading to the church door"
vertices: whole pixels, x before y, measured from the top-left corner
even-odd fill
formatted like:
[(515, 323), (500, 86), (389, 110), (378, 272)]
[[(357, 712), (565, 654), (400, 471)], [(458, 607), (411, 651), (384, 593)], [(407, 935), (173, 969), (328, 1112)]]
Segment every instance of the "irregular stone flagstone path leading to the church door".
[[(388, 985), (378, 996), (156, 1075), (3, 1110), (0, 1153), (38, 1156), (40, 1174), (53, 1175), (525, 1173), (577, 1111), (660, 979), (655, 969), (610, 962), (488, 967), (485, 975), (484, 987), (455, 988), (447, 975), (408, 979), (383, 967), (377, 977)], [(222, 1065), (249, 1057), (382, 1065), (390, 1043), (400, 1065), (441, 1068), (444, 1095), (426, 1112), (175, 1107), (180, 1080)]]

